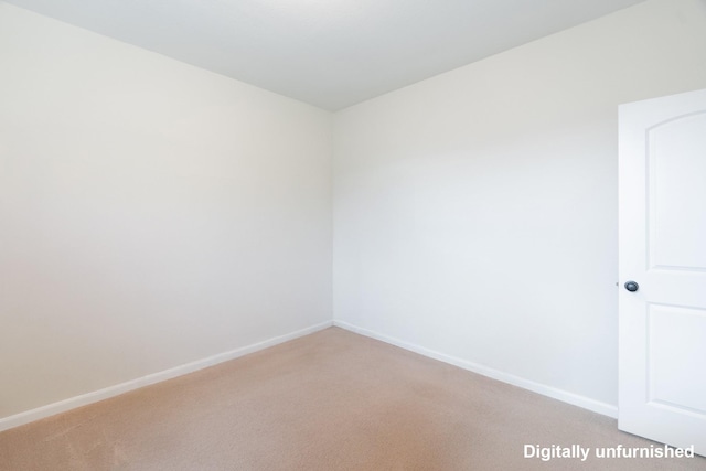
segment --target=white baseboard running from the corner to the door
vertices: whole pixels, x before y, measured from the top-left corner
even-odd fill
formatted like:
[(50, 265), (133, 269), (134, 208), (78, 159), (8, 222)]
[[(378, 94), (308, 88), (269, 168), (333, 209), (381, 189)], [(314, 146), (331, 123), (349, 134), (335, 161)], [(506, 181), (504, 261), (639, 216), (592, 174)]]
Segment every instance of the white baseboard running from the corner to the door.
[(459, 366), (463, 370), (468, 370), (470, 372), (478, 373), (480, 375), (488, 376), (493, 379), (498, 379), (503, 383), (511, 384), (513, 386), (522, 387), (523, 389), (532, 390), (533, 393), (542, 394), (543, 396), (552, 397), (554, 399), (558, 399), (564, 403), (571, 404), (574, 406), (592, 410), (593, 413), (602, 414), (605, 416), (612, 417), (612, 418), (618, 418), (618, 407), (607, 403), (601, 403), (600, 400), (591, 399), (586, 396), (580, 396), (578, 394), (569, 393), (569, 392), (558, 389), (556, 387), (547, 386), (541, 383), (535, 383), (533, 381), (525, 379), (520, 376), (512, 375), (510, 373), (504, 373), (499, 370), (479, 365), (478, 363), (469, 362), (466, 360), (458, 358), (456, 356), (447, 355), (443, 353), (436, 352), (434, 350), (426, 349), (424, 346), (415, 345), (415, 344), (402, 341), (399, 339), (392, 338), (389, 335), (385, 335), (375, 331), (359, 328), (356, 325), (350, 324), (344, 321), (334, 320), (333, 325), (339, 327), (341, 329), (345, 329), (354, 333), (359, 333), (361, 335), (379, 340), (385, 343), (389, 343), (395, 346), (399, 346), (400, 349), (409, 350), (410, 352), (419, 353), (420, 355), (428, 356), (434, 360), (439, 360), (441, 362), (449, 363), (454, 366)]

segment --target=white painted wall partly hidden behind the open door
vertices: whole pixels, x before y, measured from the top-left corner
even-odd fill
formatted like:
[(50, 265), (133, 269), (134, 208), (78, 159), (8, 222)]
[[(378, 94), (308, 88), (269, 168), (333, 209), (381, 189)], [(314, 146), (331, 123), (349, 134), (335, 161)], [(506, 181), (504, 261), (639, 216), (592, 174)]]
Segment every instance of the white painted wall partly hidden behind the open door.
[(614, 410), (618, 105), (703, 87), (653, 0), (340, 111), (336, 322)]

